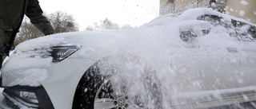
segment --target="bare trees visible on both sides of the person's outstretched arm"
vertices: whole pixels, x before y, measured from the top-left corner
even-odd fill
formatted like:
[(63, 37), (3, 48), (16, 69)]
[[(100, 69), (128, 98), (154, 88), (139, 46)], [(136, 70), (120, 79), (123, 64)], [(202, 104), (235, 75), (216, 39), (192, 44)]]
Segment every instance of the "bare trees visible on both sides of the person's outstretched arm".
[[(78, 24), (75, 23), (74, 18), (70, 14), (58, 11), (54, 14), (45, 15), (54, 27), (55, 33), (66, 33), (78, 31)], [(44, 36), (33, 24), (30, 23), (29, 18), (24, 18), (14, 45), (18, 45), (23, 41), (27, 41), (36, 37)]]

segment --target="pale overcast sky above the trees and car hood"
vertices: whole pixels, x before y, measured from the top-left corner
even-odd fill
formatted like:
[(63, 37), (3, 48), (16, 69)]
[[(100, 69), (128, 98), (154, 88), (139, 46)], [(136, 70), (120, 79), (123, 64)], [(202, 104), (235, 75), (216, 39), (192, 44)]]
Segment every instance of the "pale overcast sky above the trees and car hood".
[(38, 0), (46, 14), (72, 14), (80, 30), (105, 18), (118, 25), (142, 25), (158, 17), (159, 0)]

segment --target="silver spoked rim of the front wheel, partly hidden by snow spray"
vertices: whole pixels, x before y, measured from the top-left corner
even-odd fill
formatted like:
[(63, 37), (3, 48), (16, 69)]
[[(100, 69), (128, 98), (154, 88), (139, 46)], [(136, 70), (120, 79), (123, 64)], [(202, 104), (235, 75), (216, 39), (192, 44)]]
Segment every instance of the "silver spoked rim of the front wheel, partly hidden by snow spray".
[[(129, 81), (129, 84), (132, 82)], [(145, 94), (129, 91), (127, 81), (122, 76), (114, 75), (105, 80), (98, 88), (94, 99), (94, 109), (137, 109), (146, 103)]]

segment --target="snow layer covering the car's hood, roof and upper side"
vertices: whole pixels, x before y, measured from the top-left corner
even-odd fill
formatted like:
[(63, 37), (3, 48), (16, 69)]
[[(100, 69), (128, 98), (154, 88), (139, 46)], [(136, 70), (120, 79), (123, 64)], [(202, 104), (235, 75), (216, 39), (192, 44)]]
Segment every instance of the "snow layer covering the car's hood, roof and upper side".
[[(47, 77), (45, 69), (51, 64), (51, 57), (42, 58), (40, 53), (46, 53), (47, 49), (53, 45), (74, 42), (82, 45), (82, 49), (76, 53), (79, 57), (90, 56), (90, 54), (100, 56), (104, 53), (132, 53), (141, 56), (153, 64), (158, 70), (158, 76), (167, 83), (168, 76), (174, 75), (178, 68), (205, 64), (205, 60), (236, 61), (238, 57), (228, 53), (226, 48), (239, 49), (242, 43), (230, 37), (222, 26), (213, 26), (207, 21), (197, 21), (197, 18), (203, 14), (222, 16), (226, 21), (233, 18), (212, 9), (191, 9), (179, 16), (168, 14), (156, 18), (138, 29), (59, 33), (39, 37), (18, 45), (15, 52), (10, 55), (10, 59), (4, 64), (2, 72), (27, 76), (15, 80), (9, 86), (40, 85)], [(211, 31), (206, 36), (195, 38), (193, 42), (182, 41), (179, 37), (180, 30), (191, 27), (211, 29)], [(251, 43), (252, 48), (256, 48), (255, 42), (248, 43)], [(33, 53), (34, 50), (38, 52)], [(186, 71), (186, 69), (183, 70)]]

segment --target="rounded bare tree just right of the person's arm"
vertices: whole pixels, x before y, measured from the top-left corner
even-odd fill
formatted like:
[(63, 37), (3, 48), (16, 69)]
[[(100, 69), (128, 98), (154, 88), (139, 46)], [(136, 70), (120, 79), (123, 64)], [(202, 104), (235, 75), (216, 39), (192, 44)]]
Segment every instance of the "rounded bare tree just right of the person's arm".
[(78, 31), (78, 24), (75, 23), (73, 16), (70, 14), (58, 11), (50, 14), (49, 20), (54, 26), (55, 33)]

